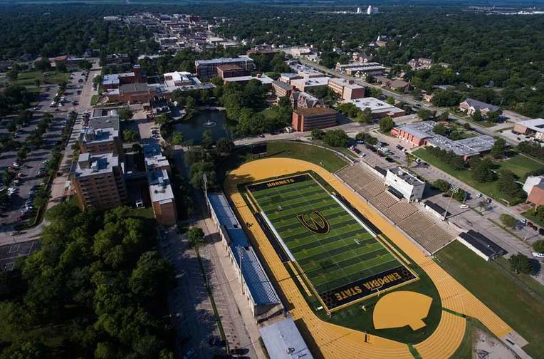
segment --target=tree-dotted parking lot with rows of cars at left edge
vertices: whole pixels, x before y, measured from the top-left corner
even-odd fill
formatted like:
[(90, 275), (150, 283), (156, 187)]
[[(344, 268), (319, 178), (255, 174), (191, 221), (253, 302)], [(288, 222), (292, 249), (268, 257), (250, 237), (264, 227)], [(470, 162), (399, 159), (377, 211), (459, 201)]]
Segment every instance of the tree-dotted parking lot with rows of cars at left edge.
[[(10, 170), (16, 173), (18, 177), (20, 176), (20, 182), (19, 184), (12, 183), (9, 186), (4, 186), (4, 184), (2, 184), (2, 187), (5, 187), (4, 190), (7, 191), (9, 190), (9, 187), (12, 187), (15, 191), (10, 197), (9, 205), (4, 207), (4, 209), (1, 209), (0, 233), (4, 233), (5, 235), (6, 232), (13, 231), (14, 224), (21, 218), (21, 211), (26, 208), (25, 203), (29, 199), (31, 188), (43, 184), (45, 176), (41, 174), (40, 171), (43, 171), (45, 162), (51, 159), (51, 150), (53, 147), (61, 143), (62, 130), (65, 121), (70, 111), (76, 108), (77, 105), (74, 105), (74, 103), (77, 103), (80, 98), (78, 86), (83, 86), (83, 83), (78, 82), (80, 79), (83, 81), (85, 80), (85, 76), (82, 76), (81, 71), (72, 74), (65, 92), (65, 105), (62, 107), (51, 107), (51, 100), (56, 95), (58, 86), (44, 85), (42, 87), (43, 92), (38, 98), (38, 103), (33, 104), (33, 107), (29, 109), (33, 110), (33, 118), (28, 122), (28, 125), (17, 131), (18, 135), (14, 140), (21, 144), (25, 143), (28, 136), (31, 135), (31, 132), (43, 118), (43, 114), (51, 113), (51, 115), (53, 115), (51, 127), (48, 128), (46, 134), (43, 135), (43, 145), (41, 147), (36, 148), (29, 146), (31, 153), (25, 161), (18, 164), (20, 166), (14, 166), (17, 150), (1, 153), (0, 171), (3, 172), (6, 168), (11, 167)], [(6, 124), (14, 120), (15, 117), (16, 116), (8, 116), (1, 120), (0, 136), (10, 135), (6, 130)], [(36, 209), (34, 209), (34, 211), (35, 210)], [(35, 212), (28, 213), (28, 216), (26, 216), (27, 218), (23, 217), (23, 220), (32, 219), (34, 213)]]

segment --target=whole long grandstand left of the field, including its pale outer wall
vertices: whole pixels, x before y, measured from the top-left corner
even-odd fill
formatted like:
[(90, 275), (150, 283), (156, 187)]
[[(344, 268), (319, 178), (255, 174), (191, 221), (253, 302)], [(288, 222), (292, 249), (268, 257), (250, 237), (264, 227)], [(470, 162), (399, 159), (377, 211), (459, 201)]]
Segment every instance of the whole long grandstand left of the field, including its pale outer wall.
[(266, 313), (281, 310), (283, 306), (280, 298), (225, 195), (222, 193), (208, 194), (206, 202), (211, 212), (211, 219), (229, 253), (253, 316), (266, 316)]

